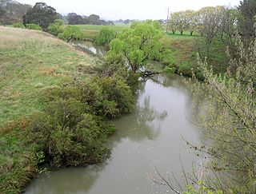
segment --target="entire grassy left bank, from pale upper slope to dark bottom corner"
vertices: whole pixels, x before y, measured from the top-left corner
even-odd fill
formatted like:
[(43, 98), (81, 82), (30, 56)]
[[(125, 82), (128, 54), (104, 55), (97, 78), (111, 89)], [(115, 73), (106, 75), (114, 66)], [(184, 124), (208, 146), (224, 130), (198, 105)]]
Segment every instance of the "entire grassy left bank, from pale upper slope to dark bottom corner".
[(78, 66), (90, 65), (92, 58), (49, 34), (0, 27), (0, 61), (0, 190), (16, 193), (37, 166), (38, 153), (23, 130), (26, 117), (42, 111), (42, 91), (78, 77)]

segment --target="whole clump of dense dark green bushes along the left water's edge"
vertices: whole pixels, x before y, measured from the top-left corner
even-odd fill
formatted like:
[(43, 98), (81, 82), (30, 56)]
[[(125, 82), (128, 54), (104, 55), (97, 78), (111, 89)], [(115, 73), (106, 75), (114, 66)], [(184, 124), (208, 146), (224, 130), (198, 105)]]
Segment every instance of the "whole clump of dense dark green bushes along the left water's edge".
[(109, 154), (106, 137), (115, 130), (107, 119), (130, 113), (134, 104), (120, 77), (94, 77), (44, 93), (44, 111), (31, 117), (27, 129), (30, 143), (54, 168), (102, 161)]

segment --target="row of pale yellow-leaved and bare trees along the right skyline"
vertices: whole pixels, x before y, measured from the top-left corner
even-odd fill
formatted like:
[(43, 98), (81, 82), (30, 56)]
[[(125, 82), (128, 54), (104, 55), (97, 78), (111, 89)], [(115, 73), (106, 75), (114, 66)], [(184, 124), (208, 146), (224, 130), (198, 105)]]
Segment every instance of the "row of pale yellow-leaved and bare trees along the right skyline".
[(228, 46), (230, 53), (234, 56), (236, 53), (234, 37), (237, 34), (242, 37), (245, 44), (256, 37), (255, 15), (256, 2), (254, 0), (245, 0), (238, 8), (208, 6), (198, 11), (184, 10), (170, 14), (166, 30), (171, 31), (172, 34), (177, 31), (180, 34), (189, 31), (191, 36), (196, 32), (204, 37), (206, 57), (209, 57), (210, 45), (216, 38)]

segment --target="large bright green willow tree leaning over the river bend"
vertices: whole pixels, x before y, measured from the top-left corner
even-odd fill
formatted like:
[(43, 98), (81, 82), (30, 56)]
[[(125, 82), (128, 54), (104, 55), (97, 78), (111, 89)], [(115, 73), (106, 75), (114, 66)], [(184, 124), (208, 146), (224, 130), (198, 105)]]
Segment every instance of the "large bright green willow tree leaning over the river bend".
[(159, 40), (162, 34), (162, 26), (158, 22), (134, 23), (110, 42), (109, 52), (122, 54), (129, 69), (136, 73), (148, 61), (161, 60), (164, 48)]

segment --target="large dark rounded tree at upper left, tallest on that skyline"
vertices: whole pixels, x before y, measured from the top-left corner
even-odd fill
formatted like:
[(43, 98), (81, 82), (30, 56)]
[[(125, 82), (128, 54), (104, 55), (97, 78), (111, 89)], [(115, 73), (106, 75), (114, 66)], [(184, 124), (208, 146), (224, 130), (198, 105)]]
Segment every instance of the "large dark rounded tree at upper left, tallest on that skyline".
[(47, 6), (45, 2), (37, 2), (34, 7), (26, 12), (23, 16), (23, 23), (34, 23), (42, 27), (42, 30), (47, 30), (48, 26), (58, 19), (56, 10)]

